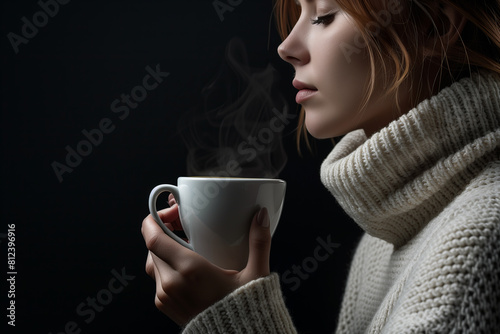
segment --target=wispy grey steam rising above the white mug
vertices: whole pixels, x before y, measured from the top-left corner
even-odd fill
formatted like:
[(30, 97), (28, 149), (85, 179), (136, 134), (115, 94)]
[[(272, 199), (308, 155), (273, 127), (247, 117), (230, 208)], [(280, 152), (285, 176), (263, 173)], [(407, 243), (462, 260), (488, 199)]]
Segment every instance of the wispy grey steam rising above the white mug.
[(240, 40), (228, 43), (226, 60), (203, 89), (203, 106), (179, 123), (188, 175), (275, 178), (287, 160), (283, 129), (296, 116), (275, 91), (277, 71), (252, 70)]

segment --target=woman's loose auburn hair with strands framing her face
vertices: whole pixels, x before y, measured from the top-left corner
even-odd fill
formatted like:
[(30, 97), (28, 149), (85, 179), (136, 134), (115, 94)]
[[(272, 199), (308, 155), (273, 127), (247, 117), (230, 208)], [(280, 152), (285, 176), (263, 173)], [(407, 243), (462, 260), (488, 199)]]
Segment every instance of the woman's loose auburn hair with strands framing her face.
[[(385, 94), (394, 97), (401, 84), (410, 80), (412, 95), (416, 99), (422, 91), (424, 61), (437, 63), (440, 67), (438, 81), (431, 91), (470, 76), (480, 69), (500, 74), (500, 0), (336, 0), (358, 27), (369, 56), (371, 75), (366, 83), (365, 96), (360, 110), (366, 107), (375, 88), (376, 75), (382, 75)], [(388, 6), (398, 4), (401, 11), (387, 24), (379, 24), (378, 29), (368, 29), (370, 24), (379, 22), (381, 11), (388, 12)], [(465, 26), (457, 42), (436, 45), (432, 56), (428, 53), (429, 36), (440, 36), (443, 22), (439, 21), (438, 10), (442, 5), (454, 7), (466, 19)], [(274, 14), (278, 32), (284, 40), (300, 16), (301, 8), (295, 0), (275, 0)], [(434, 51), (435, 51), (434, 50)], [(437, 54), (436, 54), (437, 53)], [(442, 80), (443, 79), (443, 80)], [(419, 101), (412, 101), (413, 103)], [(399, 107), (398, 107), (399, 108)], [(399, 110), (401, 112), (401, 110)], [(310, 149), (305, 129), (305, 113), (301, 108), (297, 147), (304, 138)]]

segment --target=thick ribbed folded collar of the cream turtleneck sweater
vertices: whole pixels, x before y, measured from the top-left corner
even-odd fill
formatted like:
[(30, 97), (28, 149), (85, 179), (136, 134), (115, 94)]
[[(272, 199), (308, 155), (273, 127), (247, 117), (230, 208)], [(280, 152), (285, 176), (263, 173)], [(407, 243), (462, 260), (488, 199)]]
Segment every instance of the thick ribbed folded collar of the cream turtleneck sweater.
[(475, 74), (369, 139), (362, 130), (344, 136), (321, 180), (361, 228), (398, 247), (500, 159), (499, 123), (500, 78)]

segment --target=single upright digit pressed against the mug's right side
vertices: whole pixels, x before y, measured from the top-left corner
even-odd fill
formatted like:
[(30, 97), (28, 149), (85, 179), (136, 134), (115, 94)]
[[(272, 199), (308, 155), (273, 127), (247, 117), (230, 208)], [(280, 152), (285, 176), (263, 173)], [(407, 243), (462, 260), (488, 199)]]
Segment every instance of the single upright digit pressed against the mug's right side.
[(254, 216), (250, 227), (248, 262), (245, 274), (250, 279), (268, 276), (269, 255), (271, 253), (271, 229), (266, 208), (260, 209)]

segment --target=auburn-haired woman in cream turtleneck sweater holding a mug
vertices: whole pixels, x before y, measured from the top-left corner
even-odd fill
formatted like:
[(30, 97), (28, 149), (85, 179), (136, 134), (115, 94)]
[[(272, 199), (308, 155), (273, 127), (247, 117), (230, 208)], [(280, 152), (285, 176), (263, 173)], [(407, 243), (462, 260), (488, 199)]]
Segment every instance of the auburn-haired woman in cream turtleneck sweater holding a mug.
[[(299, 133), (345, 135), (321, 179), (364, 230), (338, 333), (500, 328), (500, 1), (278, 0)], [(180, 228), (172, 207), (160, 217)], [(265, 209), (241, 272), (147, 217), (157, 307), (186, 333), (294, 333)], [(317, 319), (317, 321), (326, 321)]]

